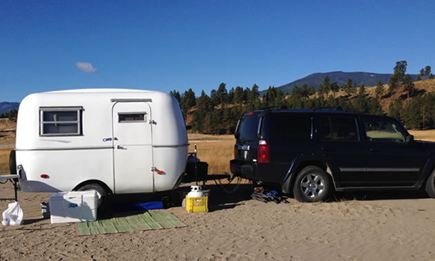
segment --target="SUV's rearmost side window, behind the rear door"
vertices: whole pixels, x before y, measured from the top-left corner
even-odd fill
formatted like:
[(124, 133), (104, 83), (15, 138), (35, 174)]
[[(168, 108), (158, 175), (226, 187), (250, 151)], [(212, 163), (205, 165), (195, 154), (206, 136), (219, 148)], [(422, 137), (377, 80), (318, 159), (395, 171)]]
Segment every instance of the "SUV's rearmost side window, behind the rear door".
[(311, 115), (271, 113), (269, 137), (273, 142), (307, 142), (312, 139)]

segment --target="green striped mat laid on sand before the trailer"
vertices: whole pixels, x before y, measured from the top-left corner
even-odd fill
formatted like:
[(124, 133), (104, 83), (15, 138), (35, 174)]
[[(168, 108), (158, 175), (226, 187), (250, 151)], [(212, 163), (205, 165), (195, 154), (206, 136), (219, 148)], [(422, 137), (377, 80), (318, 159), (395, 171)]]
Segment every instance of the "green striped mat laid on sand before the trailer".
[(148, 211), (140, 215), (130, 215), (107, 220), (96, 220), (75, 223), (75, 233), (81, 235), (97, 235), (151, 229), (168, 229), (187, 226), (168, 211)]

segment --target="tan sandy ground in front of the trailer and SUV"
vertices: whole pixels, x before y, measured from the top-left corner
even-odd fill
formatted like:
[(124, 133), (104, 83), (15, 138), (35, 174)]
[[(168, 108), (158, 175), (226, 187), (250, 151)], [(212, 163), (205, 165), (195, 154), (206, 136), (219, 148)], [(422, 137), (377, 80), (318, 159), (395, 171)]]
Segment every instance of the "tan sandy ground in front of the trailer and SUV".
[[(0, 259), (435, 260), (435, 200), (421, 193), (340, 193), (328, 203), (275, 204), (247, 200), (247, 184), (233, 194), (208, 188), (209, 213), (168, 209), (186, 228), (79, 238), (73, 224), (41, 219), (39, 202), (49, 193), (19, 192), (25, 221), (0, 225)], [(1, 184), (0, 209), (13, 196), (12, 184)]]

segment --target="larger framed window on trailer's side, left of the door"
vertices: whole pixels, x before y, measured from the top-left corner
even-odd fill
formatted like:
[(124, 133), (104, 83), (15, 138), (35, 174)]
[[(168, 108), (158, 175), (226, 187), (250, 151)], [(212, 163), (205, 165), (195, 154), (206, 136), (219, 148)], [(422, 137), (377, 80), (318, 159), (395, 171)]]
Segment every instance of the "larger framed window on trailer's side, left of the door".
[(81, 107), (39, 108), (41, 136), (81, 135)]

